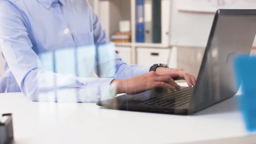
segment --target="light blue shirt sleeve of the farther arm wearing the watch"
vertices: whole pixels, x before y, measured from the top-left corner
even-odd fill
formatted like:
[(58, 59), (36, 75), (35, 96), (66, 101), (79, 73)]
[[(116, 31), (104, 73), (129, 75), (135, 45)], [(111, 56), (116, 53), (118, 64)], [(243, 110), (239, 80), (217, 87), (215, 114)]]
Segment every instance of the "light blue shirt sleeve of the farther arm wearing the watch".
[(96, 45), (95, 72), (99, 77), (127, 79), (149, 72), (150, 67), (127, 65), (116, 53), (115, 46), (108, 43), (98, 16), (90, 7), (93, 22), (94, 43)]

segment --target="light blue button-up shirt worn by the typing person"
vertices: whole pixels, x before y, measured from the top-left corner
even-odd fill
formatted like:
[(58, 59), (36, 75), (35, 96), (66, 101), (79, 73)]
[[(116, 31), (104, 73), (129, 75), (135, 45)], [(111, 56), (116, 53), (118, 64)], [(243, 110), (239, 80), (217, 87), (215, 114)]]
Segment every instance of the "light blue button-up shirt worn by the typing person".
[(97, 101), (113, 79), (149, 70), (115, 54), (86, 0), (0, 0), (0, 47), (0, 92), (33, 101)]

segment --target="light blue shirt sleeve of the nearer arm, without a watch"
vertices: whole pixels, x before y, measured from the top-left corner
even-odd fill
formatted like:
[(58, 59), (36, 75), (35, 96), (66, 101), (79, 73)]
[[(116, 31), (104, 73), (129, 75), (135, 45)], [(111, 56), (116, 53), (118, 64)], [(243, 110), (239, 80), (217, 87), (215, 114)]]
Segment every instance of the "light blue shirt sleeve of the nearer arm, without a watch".
[(43, 69), (27, 27), (21, 10), (0, 1), (0, 47), (26, 97), (33, 101), (91, 102), (113, 96), (109, 95), (112, 78), (81, 78)]

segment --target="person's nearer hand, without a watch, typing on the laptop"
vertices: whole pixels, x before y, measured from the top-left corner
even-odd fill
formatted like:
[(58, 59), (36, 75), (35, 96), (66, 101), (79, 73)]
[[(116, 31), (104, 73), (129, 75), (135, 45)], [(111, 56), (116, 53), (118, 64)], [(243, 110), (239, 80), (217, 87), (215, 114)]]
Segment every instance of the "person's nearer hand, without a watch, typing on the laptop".
[(167, 88), (171, 91), (180, 90), (174, 79), (168, 75), (161, 75), (156, 72), (149, 72), (129, 79), (114, 79), (112, 84), (116, 85), (117, 94), (138, 94), (153, 88)]

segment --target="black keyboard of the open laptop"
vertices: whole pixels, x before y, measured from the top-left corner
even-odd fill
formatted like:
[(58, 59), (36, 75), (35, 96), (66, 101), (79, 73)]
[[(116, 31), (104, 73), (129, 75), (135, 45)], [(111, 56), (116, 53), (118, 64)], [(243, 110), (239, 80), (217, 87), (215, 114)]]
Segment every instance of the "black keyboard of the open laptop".
[(190, 102), (193, 96), (194, 88), (183, 88), (179, 91), (167, 93), (156, 98), (151, 98), (147, 101), (142, 101), (138, 105), (148, 106), (161, 106), (168, 108), (175, 108), (181, 105), (185, 105)]

